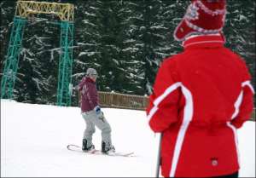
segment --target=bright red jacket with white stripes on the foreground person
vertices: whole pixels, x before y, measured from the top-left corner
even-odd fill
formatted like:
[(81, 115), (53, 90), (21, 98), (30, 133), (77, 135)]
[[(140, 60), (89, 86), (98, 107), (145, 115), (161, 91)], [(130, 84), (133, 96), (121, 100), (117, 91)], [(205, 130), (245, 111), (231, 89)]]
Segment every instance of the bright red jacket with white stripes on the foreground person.
[[(253, 109), (253, 98), (247, 97), (251, 91), (246, 66), (224, 48), (220, 36), (193, 37), (184, 47), (183, 53), (164, 60), (157, 76), (161, 79), (155, 81), (155, 95), (159, 91), (166, 95), (158, 106), (161, 111), (149, 122), (155, 131), (165, 130), (162, 163), (176, 164), (172, 167), (176, 176), (232, 173), (239, 169), (234, 126), (240, 127), (249, 118), (244, 113)], [(241, 94), (247, 97), (243, 102), (248, 105), (240, 107)], [(172, 107), (178, 112), (173, 112)], [(169, 125), (161, 127), (155, 123), (159, 122), (158, 114)], [(172, 136), (177, 140), (172, 140)], [(163, 173), (168, 174), (170, 168), (163, 167)]]

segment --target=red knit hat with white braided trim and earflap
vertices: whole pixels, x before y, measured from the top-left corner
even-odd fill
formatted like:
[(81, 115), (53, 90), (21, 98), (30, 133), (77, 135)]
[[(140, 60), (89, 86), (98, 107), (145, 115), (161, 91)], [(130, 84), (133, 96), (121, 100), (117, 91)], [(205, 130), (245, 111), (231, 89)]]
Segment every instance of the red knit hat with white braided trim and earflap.
[(221, 33), (226, 14), (226, 0), (192, 0), (174, 38), (183, 41), (190, 35)]

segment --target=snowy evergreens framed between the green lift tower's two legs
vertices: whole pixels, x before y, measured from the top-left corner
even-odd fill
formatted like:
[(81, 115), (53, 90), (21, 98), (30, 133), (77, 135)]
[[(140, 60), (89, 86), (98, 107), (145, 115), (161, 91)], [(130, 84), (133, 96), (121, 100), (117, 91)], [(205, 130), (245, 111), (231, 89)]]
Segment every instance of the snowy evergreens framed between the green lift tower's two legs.
[[(17, 100), (55, 103), (58, 73), (59, 26), (51, 17), (27, 20), (15, 84)], [(55, 50), (57, 49), (57, 50)]]

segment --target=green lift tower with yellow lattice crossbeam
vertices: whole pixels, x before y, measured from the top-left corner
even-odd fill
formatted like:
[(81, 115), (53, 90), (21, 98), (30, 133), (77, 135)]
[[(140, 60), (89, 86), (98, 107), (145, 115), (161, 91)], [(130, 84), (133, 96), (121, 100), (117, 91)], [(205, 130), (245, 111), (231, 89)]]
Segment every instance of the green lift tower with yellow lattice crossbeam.
[(14, 25), (9, 40), (6, 60), (3, 62), (1, 98), (12, 99), (16, 72), (26, 20), (31, 14), (55, 14), (61, 20), (61, 55), (57, 89), (57, 105), (70, 106), (72, 95), (73, 63), (73, 4), (18, 1)]

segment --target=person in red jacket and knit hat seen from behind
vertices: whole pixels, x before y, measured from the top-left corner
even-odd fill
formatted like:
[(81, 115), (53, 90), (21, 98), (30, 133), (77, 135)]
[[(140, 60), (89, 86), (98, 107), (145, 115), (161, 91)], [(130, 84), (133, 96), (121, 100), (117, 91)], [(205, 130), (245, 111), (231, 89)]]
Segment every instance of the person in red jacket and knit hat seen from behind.
[(192, 0), (174, 37), (183, 52), (160, 66), (147, 116), (162, 134), (165, 177), (238, 177), (236, 129), (253, 112), (244, 60), (224, 47), (225, 0)]

